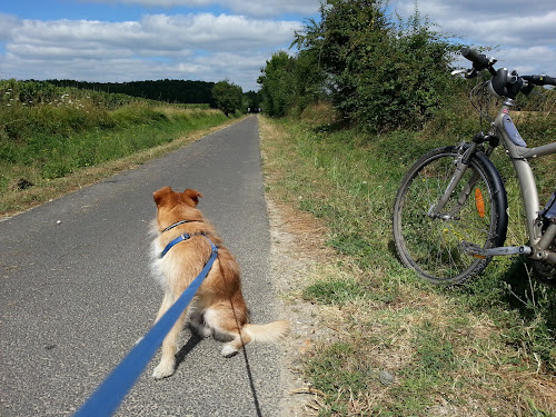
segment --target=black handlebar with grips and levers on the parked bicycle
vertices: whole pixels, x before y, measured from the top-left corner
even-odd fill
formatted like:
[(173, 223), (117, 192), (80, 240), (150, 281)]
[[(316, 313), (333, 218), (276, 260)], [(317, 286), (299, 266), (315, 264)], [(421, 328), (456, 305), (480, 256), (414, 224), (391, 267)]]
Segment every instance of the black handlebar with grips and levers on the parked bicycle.
[(489, 58), (484, 53), (477, 52), (471, 48), (461, 48), (461, 56), (473, 62), (473, 70), (467, 72), (466, 78), (477, 77), (483, 70), (488, 70), (493, 75), (488, 87), (495, 96), (508, 97), (515, 99), (522, 91), (528, 95), (534, 86), (556, 86), (556, 78), (548, 76), (523, 76), (519, 77), (516, 71), (508, 73), (506, 68), (494, 69), (496, 59)]

